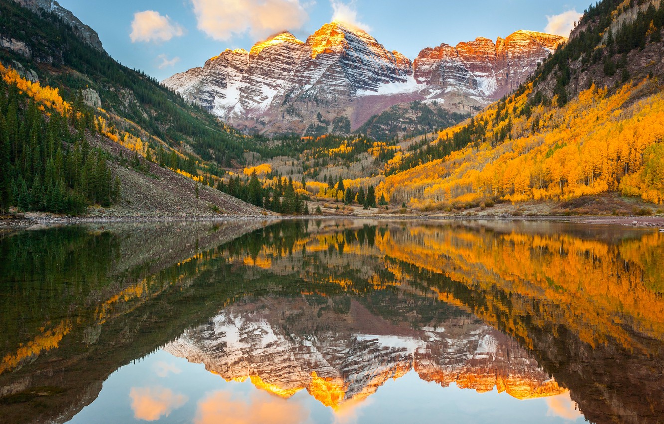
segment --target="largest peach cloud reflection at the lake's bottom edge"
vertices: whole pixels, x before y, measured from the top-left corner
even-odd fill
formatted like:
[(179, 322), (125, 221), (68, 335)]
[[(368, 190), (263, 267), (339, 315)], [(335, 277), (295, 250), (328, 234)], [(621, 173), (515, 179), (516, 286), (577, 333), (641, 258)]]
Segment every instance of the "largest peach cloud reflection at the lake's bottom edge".
[(196, 424), (298, 424), (308, 422), (304, 405), (263, 391), (234, 396), (214, 391), (199, 402)]

